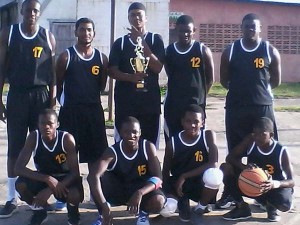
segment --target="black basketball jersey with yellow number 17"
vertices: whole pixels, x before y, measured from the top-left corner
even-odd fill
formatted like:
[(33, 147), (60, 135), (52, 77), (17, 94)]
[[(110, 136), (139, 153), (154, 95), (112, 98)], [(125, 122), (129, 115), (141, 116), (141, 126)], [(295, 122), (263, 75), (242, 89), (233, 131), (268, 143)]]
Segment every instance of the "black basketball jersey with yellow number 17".
[(28, 89), (51, 84), (53, 65), (49, 31), (39, 26), (32, 37), (27, 37), (21, 30), (21, 24), (12, 25), (6, 66), (12, 88)]

